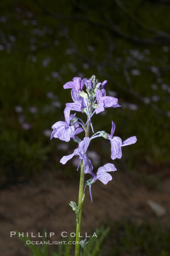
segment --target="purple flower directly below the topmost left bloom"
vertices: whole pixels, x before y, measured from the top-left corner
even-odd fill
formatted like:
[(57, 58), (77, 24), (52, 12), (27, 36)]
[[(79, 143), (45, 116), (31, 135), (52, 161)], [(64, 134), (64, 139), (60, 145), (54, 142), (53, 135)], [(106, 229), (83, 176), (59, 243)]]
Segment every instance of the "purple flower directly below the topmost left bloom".
[(74, 103), (66, 103), (66, 107), (69, 107), (70, 110), (81, 112), (83, 108), (86, 108), (84, 99), (79, 96), (78, 92), (75, 89), (71, 90), (71, 96)]

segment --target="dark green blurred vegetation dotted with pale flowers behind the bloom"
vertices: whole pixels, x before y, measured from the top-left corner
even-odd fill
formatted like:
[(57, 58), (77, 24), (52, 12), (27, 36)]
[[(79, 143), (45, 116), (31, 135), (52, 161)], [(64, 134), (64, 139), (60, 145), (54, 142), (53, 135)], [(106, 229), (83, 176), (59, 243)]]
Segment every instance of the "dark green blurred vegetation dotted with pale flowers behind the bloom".
[[(123, 148), (124, 161), (114, 161), (117, 169), (137, 172), (143, 165), (155, 170), (169, 165), (170, 5), (7, 0), (0, 9), (3, 184), (49, 169), (70, 177), (70, 167), (58, 161), (66, 153), (58, 145), (66, 143), (50, 142), (44, 134), (63, 120), (65, 103), (72, 101), (63, 84), (74, 76), (95, 74), (100, 81), (108, 80), (107, 93), (122, 105), (108, 109), (107, 119), (94, 116), (96, 129), (110, 133), (113, 120), (115, 135), (137, 136), (133, 147)], [(55, 96), (47, 97), (48, 92)], [(23, 111), (17, 113), (17, 106)], [(91, 150), (104, 156), (100, 165), (110, 161), (109, 141), (96, 139)]]

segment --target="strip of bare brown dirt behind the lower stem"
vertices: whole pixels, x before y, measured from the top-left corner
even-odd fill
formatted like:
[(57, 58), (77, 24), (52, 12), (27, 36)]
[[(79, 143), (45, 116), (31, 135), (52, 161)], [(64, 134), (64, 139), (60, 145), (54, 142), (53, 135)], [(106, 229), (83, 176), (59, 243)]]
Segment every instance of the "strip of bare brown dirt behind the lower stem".
[[(86, 191), (82, 235), (100, 227), (103, 220), (121, 220), (128, 216), (138, 223), (143, 220), (160, 222), (169, 221), (170, 213), (170, 178), (164, 180), (159, 189), (148, 191), (144, 186), (131, 182), (130, 177), (115, 172), (113, 180), (107, 185), (97, 181), (92, 185), (93, 202), (91, 203), (88, 188)], [(10, 238), (10, 231), (54, 232), (53, 240), (61, 240), (61, 232), (75, 232), (75, 213), (68, 202), (77, 201), (78, 185), (69, 183), (48, 174), (41, 185), (29, 183), (11, 186), (0, 193), (0, 248), (2, 256), (30, 255), (29, 248), (24, 247), (17, 236)], [(158, 218), (147, 205), (153, 200), (165, 207), (167, 214)], [(35, 239), (34, 239), (35, 240)], [(38, 240), (38, 239), (36, 239)]]

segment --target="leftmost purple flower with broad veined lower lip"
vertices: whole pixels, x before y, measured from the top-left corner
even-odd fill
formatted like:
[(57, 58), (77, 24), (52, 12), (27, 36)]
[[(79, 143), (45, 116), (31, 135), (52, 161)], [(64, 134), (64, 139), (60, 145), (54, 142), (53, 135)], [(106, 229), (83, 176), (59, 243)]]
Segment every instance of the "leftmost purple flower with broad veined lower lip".
[(77, 133), (76, 128), (79, 127), (79, 124), (75, 123), (74, 125), (70, 124), (70, 120), (75, 117), (76, 114), (70, 115), (70, 108), (64, 109), (64, 117), (65, 122), (59, 121), (57, 123), (54, 123), (52, 126), (53, 132), (51, 133), (51, 139), (59, 138), (60, 140), (64, 140), (66, 142), (70, 141), (70, 137), (74, 136), (75, 134), (81, 133), (83, 129), (79, 129)]

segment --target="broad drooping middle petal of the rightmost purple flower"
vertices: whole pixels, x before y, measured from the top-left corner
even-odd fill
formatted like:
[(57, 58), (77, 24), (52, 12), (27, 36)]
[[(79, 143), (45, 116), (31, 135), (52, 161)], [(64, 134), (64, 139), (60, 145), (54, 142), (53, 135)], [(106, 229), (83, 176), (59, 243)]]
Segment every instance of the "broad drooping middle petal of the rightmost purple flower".
[(111, 158), (114, 160), (116, 158), (121, 158), (122, 157), (122, 151), (121, 151), (121, 146), (122, 146), (122, 140), (119, 137), (113, 137), (113, 139), (110, 139), (111, 143)]

